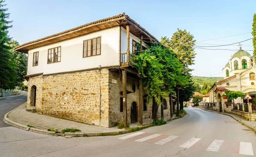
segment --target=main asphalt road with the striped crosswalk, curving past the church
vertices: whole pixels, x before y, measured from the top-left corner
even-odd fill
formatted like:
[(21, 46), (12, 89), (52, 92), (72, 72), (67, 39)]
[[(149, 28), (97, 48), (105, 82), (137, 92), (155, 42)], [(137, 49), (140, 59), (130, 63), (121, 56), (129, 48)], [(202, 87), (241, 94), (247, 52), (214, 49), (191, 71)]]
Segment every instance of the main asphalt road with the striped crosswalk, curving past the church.
[(166, 125), (117, 136), (67, 139), (3, 127), (0, 157), (253, 157), (253, 131), (226, 115), (186, 110)]

